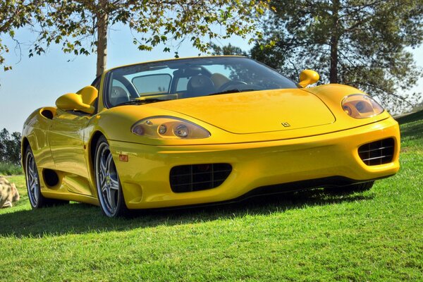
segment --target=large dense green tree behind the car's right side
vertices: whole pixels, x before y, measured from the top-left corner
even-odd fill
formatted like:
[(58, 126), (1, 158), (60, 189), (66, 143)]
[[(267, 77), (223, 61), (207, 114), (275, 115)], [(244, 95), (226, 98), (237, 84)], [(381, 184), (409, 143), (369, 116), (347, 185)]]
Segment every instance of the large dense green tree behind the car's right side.
[(312, 68), (321, 82), (359, 87), (397, 109), (422, 98), (403, 93), (422, 75), (405, 47), (422, 43), (423, 0), (287, 0), (271, 6), (263, 28), (271, 47), (257, 44), (253, 58), (295, 79)]

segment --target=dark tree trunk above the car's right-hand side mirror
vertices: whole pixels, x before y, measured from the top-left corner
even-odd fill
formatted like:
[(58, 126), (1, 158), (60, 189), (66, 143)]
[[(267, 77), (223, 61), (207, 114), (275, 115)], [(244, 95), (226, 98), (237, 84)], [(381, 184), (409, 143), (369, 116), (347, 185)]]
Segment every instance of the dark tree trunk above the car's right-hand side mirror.
[(331, 35), (331, 66), (329, 70), (329, 81), (338, 83), (338, 42), (339, 42), (339, 0), (332, 1), (332, 35)]

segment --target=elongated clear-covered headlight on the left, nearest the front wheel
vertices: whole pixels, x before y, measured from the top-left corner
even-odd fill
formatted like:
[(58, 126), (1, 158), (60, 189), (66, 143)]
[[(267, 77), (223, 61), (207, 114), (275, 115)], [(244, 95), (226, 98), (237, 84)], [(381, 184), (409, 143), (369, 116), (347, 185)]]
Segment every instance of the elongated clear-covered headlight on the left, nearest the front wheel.
[(152, 116), (138, 121), (132, 133), (155, 139), (201, 139), (210, 137), (200, 125), (173, 116)]

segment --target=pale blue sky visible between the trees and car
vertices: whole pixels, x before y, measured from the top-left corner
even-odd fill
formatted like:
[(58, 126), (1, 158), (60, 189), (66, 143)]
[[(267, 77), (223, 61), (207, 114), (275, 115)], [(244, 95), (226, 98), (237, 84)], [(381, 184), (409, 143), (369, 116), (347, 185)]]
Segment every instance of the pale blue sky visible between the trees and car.
[[(22, 42), (30, 40), (28, 32), (18, 32), (17, 38)], [(128, 63), (168, 59), (173, 53), (164, 53), (164, 47), (157, 47), (153, 51), (138, 51), (132, 43), (133, 36), (129, 30), (114, 27), (109, 33), (108, 68)], [(12, 71), (0, 72), (0, 130), (6, 128), (9, 132), (22, 131), (23, 123), (32, 111), (42, 106), (54, 106), (56, 99), (62, 94), (76, 92), (80, 88), (90, 85), (94, 80), (96, 56), (73, 56), (63, 54), (60, 47), (53, 46), (47, 54), (27, 57), (27, 48), (23, 46), (22, 57), (13, 50), (13, 42), (9, 43), (10, 54), (6, 56), (6, 63), (13, 66)], [(250, 49), (247, 39), (238, 37), (230, 41), (215, 42), (217, 44), (231, 44), (245, 50)], [(175, 50), (176, 51), (176, 50)], [(180, 57), (197, 56), (199, 51), (186, 42), (177, 50)], [(412, 51), (418, 66), (423, 67), (423, 47)], [(69, 61), (71, 60), (71, 61)], [(415, 91), (423, 92), (423, 79)]]

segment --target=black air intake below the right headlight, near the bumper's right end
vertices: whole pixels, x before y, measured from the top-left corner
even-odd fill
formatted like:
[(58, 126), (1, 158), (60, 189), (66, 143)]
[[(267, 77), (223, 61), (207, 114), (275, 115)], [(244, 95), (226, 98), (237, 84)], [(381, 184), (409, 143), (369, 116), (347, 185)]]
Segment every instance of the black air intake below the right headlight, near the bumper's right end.
[(393, 158), (394, 145), (393, 138), (387, 138), (362, 145), (358, 148), (358, 154), (367, 166), (388, 164)]

